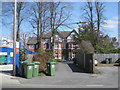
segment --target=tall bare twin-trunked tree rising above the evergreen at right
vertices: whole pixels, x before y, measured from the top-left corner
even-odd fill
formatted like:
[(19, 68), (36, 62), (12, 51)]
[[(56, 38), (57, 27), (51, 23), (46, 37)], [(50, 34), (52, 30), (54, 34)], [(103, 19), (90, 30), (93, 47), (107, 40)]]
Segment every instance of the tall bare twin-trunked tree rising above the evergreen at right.
[(104, 9), (104, 3), (97, 2), (97, 0), (95, 2), (88, 1), (86, 2), (85, 6), (82, 7), (82, 16), (88, 22), (88, 25), (90, 26), (90, 31), (96, 30), (97, 27), (97, 31), (99, 32), (101, 24), (105, 24)]

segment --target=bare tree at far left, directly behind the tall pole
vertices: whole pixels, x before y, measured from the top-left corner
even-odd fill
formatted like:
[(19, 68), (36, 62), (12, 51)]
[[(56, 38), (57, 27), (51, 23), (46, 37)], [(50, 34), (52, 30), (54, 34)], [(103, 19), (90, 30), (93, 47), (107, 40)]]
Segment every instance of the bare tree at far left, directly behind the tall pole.
[[(3, 4), (4, 4), (4, 6), (3, 6), (2, 13), (3, 13), (4, 19), (6, 19), (6, 17), (12, 18), (14, 15), (14, 3), (7, 2), (7, 3), (3, 3)], [(25, 3), (25, 2), (17, 2), (17, 36), (16, 36), (17, 41), (20, 41), (20, 26), (21, 26), (21, 23), (25, 19), (25, 16), (26, 16), (25, 15), (26, 13), (24, 13), (26, 4), (27, 3)], [(3, 20), (3, 23), (8, 25), (8, 22), (6, 22), (6, 20)], [(13, 19), (10, 20), (9, 25), (10, 24), (13, 26)]]

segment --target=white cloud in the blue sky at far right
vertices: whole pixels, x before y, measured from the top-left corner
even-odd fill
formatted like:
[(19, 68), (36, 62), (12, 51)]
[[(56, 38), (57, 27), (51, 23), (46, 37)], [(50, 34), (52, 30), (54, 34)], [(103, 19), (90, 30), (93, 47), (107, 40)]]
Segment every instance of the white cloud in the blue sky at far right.
[(104, 28), (117, 28), (118, 27), (118, 21), (115, 20), (105, 20), (106, 24), (103, 25)]

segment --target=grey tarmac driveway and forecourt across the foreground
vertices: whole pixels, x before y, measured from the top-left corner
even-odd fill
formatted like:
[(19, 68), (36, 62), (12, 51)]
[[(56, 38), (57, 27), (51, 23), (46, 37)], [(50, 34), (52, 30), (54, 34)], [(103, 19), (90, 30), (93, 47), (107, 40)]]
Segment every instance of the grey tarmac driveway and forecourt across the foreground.
[[(16, 84), (3, 87), (20, 88), (118, 88), (118, 67), (97, 67), (102, 74), (83, 73), (73, 63), (56, 65), (55, 76), (38, 76), (32, 79), (16, 78)], [(4, 80), (4, 78), (2, 79)]]

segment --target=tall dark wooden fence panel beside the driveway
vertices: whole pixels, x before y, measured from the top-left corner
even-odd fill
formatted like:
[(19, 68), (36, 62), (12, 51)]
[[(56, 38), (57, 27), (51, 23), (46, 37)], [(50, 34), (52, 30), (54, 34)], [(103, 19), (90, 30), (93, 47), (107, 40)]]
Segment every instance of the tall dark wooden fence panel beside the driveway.
[(74, 63), (82, 70), (88, 73), (93, 73), (93, 54), (76, 54)]

